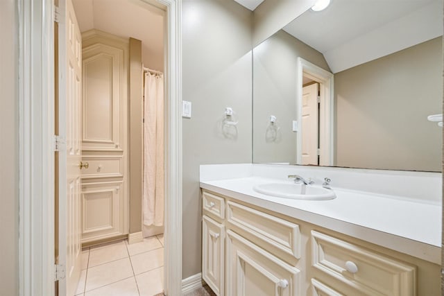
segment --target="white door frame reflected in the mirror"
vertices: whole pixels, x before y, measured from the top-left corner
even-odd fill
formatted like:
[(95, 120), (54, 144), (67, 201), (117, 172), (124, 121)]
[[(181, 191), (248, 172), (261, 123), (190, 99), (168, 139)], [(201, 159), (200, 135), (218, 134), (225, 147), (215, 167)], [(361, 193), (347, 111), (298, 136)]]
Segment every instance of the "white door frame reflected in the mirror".
[(334, 164), (334, 80), (333, 73), (298, 58), (296, 66), (296, 164), (302, 164), (302, 76), (319, 83), (321, 109), (319, 112), (319, 141), (321, 142), (320, 166)]

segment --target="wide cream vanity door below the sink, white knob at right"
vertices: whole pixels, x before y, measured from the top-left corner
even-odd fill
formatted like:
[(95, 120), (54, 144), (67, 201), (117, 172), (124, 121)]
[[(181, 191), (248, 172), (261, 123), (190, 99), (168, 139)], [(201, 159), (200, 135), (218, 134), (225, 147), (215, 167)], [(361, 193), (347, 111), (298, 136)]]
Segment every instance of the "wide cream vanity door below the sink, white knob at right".
[(246, 240), (227, 231), (227, 295), (301, 295), (300, 270)]

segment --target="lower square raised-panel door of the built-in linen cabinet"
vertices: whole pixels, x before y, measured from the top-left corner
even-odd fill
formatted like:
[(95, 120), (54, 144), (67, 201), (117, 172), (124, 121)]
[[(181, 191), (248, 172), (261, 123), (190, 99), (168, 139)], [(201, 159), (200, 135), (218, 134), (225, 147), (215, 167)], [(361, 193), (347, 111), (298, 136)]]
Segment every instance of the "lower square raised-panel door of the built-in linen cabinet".
[(82, 187), (82, 242), (123, 234), (122, 182), (86, 183)]

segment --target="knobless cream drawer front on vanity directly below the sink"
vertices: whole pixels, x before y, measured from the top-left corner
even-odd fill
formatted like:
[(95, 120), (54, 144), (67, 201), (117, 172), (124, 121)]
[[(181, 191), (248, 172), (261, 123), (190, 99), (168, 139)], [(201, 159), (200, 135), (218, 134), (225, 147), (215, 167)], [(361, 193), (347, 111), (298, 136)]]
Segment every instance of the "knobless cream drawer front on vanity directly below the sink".
[(227, 202), (227, 219), (249, 234), (300, 259), (299, 225), (236, 202)]

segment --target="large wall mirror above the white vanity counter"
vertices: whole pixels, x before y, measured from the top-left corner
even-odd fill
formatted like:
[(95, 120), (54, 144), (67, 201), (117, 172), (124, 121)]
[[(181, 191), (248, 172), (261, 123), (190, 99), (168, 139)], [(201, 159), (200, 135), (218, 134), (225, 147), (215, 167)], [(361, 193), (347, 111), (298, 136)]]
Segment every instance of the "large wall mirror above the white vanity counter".
[(332, 0), (253, 49), (253, 162), (441, 171), (441, 0)]

